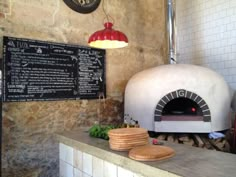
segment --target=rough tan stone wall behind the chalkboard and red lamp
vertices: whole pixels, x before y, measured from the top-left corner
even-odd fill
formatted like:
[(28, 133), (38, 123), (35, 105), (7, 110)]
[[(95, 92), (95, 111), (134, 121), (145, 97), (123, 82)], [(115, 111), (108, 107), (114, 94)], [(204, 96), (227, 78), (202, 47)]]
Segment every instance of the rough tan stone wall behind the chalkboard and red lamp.
[[(87, 45), (90, 34), (103, 28), (102, 4), (90, 14), (70, 10), (62, 0), (3, 0), (2, 36)], [(129, 46), (107, 50), (105, 100), (3, 103), (2, 166), (42, 169), (41, 176), (58, 175), (58, 144), (54, 133), (122, 121), (123, 95), (135, 73), (166, 61), (164, 0), (105, 2), (114, 28), (125, 32)]]

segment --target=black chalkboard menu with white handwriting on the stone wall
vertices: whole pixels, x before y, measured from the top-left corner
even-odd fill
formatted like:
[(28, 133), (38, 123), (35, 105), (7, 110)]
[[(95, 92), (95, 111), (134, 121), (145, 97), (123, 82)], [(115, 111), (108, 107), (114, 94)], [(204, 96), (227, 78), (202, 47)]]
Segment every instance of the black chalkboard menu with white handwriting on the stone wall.
[(105, 50), (3, 37), (3, 101), (105, 96)]

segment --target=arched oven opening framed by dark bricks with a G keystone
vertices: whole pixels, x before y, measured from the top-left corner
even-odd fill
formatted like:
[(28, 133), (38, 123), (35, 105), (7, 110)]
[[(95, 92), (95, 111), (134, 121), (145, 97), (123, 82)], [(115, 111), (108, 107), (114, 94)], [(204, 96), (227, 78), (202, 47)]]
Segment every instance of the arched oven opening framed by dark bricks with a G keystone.
[(210, 109), (202, 97), (184, 90), (168, 93), (158, 102), (154, 120), (160, 121), (211, 121)]

